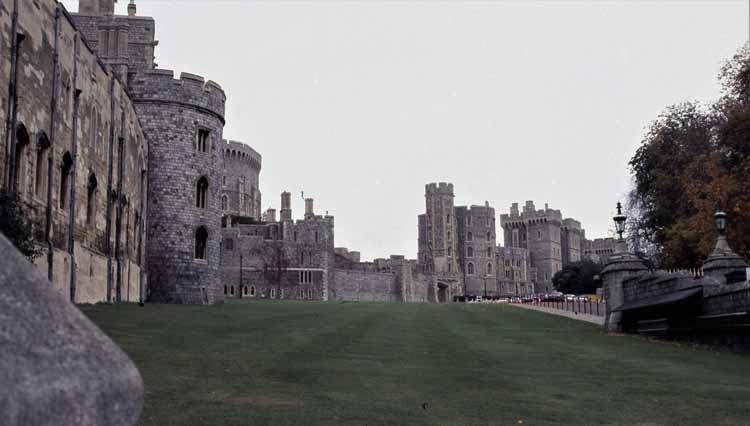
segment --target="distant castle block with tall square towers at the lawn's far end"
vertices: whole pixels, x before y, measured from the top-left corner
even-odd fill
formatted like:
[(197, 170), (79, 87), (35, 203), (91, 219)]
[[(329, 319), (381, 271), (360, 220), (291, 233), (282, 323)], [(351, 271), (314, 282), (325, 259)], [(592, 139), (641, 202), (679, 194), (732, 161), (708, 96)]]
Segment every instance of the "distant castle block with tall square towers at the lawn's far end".
[(551, 292), (563, 266), (606, 259), (614, 241), (591, 242), (581, 222), (527, 201), (523, 210), (514, 203), (500, 215), (504, 245), (498, 245), (495, 209), (488, 202), (454, 206), (454, 197), (451, 183), (427, 184), (425, 213), (418, 216), (418, 267), (435, 276), (446, 298)]

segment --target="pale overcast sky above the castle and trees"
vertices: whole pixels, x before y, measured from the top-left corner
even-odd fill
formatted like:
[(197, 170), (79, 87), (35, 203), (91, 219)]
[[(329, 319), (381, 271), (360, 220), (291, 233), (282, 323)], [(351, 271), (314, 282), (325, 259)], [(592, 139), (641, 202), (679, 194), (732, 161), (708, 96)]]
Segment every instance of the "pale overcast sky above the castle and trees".
[(160, 68), (227, 91), (224, 136), (263, 156), (263, 209), (288, 190), (299, 217), (304, 191), (363, 259), (416, 256), (433, 181), (456, 205), (549, 203), (607, 236), (644, 127), (715, 99), (748, 37), (744, 0), (136, 3)]

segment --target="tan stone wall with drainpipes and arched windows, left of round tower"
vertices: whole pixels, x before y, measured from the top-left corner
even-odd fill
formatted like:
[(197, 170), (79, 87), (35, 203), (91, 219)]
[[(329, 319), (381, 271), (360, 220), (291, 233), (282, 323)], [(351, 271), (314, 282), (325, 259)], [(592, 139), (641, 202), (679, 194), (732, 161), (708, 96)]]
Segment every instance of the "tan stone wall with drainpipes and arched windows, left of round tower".
[[(129, 270), (132, 278), (132, 266), (140, 269), (144, 259), (147, 205), (144, 171), (148, 145), (133, 103), (124, 84), (107, 70), (62, 5), (53, 0), (20, 0), (18, 31), (25, 39), (18, 47), (18, 112), (13, 135), (15, 144), (9, 146), (11, 138), (6, 125), (11, 118), (7, 112), (12, 7), (13, 2), (0, 5), (2, 175), (8, 176), (9, 169), (14, 168), (16, 190), (34, 227), (35, 237), (45, 248), (49, 205), (52, 281), (56, 288), (70, 291), (70, 273), (74, 272), (74, 298), (78, 303), (103, 302), (108, 297), (114, 300), (118, 288), (123, 300), (137, 300), (125, 289), (124, 274)], [(53, 91), (55, 40), (59, 62), (57, 90)], [(77, 90), (80, 96), (74, 120)], [(74, 122), (77, 126), (75, 147)], [(8, 155), (11, 149), (15, 151), (13, 157)], [(48, 167), (49, 154), (51, 168)], [(14, 161), (9, 161), (11, 159)], [(52, 178), (51, 185), (48, 176)], [(51, 202), (48, 202), (48, 187)], [(73, 256), (70, 256), (68, 243), (71, 234)], [(45, 258), (37, 259), (37, 265), (45, 273), (48, 253)], [(88, 263), (94, 266), (89, 267)], [(112, 264), (111, 276), (107, 274), (107, 263)]]

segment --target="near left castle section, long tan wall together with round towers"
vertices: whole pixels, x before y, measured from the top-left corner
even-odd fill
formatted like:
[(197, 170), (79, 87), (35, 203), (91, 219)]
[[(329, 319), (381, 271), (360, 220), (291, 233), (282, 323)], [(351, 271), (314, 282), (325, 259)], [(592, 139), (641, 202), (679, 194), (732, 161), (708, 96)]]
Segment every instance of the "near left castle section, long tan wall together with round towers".
[(259, 218), (261, 156), (223, 140), (221, 86), (157, 69), (154, 20), (115, 1), (2, 3), (3, 187), (71, 300), (221, 302), (222, 218)]

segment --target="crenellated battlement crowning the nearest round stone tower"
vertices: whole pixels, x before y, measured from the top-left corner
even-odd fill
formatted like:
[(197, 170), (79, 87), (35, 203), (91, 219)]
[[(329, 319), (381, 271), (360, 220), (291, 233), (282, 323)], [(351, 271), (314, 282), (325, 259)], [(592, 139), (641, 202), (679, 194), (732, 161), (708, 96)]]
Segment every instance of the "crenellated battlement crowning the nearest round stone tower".
[(174, 71), (154, 69), (134, 75), (129, 86), (133, 101), (138, 103), (170, 103), (193, 107), (216, 115), (224, 123), (226, 94), (221, 86), (199, 75), (183, 72), (174, 78)]

